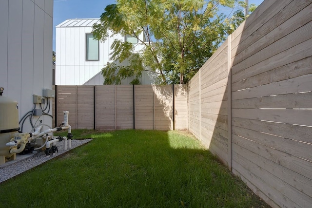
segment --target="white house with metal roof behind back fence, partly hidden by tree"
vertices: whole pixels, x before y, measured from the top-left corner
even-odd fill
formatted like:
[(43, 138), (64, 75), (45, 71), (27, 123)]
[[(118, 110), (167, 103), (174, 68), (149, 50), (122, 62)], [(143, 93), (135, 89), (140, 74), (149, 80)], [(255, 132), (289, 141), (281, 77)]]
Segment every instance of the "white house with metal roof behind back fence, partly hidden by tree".
[[(109, 54), (114, 39), (136, 44), (137, 52), (142, 48), (137, 38), (119, 34), (107, 38), (105, 42), (93, 39), (94, 23), (99, 23), (99, 19), (67, 19), (56, 26), (56, 85), (103, 85), (101, 69), (112, 62)], [(127, 61), (122, 64), (127, 64)], [(143, 74), (141, 83), (153, 83), (151, 77), (148, 73)], [(131, 81), (126, 79), (122, 84)]]

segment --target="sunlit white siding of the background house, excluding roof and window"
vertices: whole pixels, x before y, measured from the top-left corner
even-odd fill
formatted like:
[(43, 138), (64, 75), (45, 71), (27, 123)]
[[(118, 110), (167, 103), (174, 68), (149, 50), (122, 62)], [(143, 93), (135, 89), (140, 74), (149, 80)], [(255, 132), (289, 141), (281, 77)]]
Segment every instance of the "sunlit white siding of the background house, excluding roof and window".
[(85, 34), (91, 32), (91, 26), (56, 28), (56, 85), (82, 85), (87, 82), (109, 61), (114, 39), (124, 39), (115, 35), (100, 42), (99, 61), (86, 61)]

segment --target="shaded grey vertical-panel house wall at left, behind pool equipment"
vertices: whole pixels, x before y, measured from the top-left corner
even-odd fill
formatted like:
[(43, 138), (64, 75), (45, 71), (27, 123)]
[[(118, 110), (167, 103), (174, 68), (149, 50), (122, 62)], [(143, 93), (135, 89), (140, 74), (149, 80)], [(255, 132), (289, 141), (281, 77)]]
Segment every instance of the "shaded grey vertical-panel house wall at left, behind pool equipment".
[[(53, 0), (0, 0), (0, 87), (19, 102), (20, 118), (33, 109), (33, 94), (52, 89), (52, 22)], [(25, 122), (23, 132), (31, 129)]]

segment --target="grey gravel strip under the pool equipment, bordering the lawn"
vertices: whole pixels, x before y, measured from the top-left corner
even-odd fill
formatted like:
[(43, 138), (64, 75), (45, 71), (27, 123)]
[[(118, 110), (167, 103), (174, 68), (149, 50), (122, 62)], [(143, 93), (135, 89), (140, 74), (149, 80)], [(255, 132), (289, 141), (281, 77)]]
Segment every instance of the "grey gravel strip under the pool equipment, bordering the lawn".
[[(72, 139), (72, 148), (68, 148), (67, 144), (67, 150), (64, 151), (64, 142), (57, 142), (57, 147), (59, 152), (57, 152), (54, 156), (46, 156), (43, 151), (39, 151), (38, 153), (33, 154), (33, 156), (27, 157), (23, 160), (17, 161), (15, 163), (12, 163), (11, 165), (5, 166), (3, 168), (0, 167), (0, 183), (2, 183), (5, 180), (8, 180), (9, 178), (12, 178), (26, 170), (30, 170), (48, 160), (51, 160), (53, 158), (58, 157), (59, 155), (68, 152), (80, 145), (83, 145), (87, 142), (90, 142), (92, 139)], [(35, 151), (34, 151), (35, 152)], [(17, 155), (19, 157), (20, 155)]]

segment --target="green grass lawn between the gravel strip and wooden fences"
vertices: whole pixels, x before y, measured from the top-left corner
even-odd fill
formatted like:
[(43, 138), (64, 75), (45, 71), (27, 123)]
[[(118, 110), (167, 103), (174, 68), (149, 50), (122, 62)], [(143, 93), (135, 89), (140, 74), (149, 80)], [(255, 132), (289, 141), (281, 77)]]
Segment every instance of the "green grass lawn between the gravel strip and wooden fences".
[(94, 140), (0, 184), (1, 208), (268, 207), (185, 132), (73, 134)]

